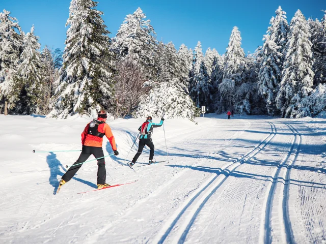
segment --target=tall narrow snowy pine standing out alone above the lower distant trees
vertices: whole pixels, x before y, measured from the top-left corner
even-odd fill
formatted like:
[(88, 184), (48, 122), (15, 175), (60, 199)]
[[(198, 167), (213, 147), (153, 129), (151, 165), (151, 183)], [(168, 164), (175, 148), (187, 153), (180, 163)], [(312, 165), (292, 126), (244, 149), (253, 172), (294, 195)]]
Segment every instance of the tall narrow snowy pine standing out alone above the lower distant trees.
[(237, 26), (232, 29), (227, 53), (225, 57), (225, 64), (223, 68), (223, 80), (219, 84), (220, 105), (219, 111), (235, 107), (234, 95), (237, 87), (243, 82), (242, 73), (244, 70), (244, 51), (241, 48), (241, 36)]

